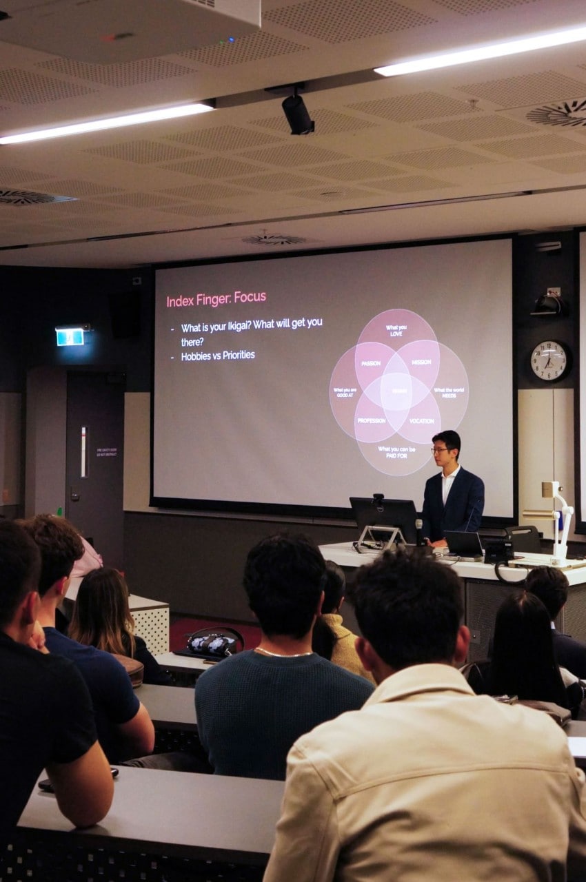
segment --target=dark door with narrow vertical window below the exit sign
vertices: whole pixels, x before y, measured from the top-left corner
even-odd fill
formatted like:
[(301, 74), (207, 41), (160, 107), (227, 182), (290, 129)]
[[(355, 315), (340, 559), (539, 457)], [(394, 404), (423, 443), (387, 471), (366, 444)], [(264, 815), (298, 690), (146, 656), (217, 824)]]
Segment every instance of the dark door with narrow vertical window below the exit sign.
[(124, 569), (123, 373), (69, 371), (65, 516), (101, 554)]

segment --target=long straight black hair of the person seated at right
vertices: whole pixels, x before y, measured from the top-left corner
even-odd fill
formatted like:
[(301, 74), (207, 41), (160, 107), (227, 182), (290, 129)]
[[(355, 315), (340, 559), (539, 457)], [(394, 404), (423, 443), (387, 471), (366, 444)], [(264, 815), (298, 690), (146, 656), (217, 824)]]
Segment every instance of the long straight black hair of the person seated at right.
[(553, 655), (550, 616), (536, 594), (517, 591), (500, 604), (488, 691), (567, 706), (566, 687)]

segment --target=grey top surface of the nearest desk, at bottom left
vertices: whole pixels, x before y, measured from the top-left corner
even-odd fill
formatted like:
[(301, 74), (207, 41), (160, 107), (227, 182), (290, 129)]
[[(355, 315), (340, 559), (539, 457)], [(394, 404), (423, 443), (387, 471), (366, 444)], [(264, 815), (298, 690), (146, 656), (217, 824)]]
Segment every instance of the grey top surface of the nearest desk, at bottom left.
[[(100, 841), (110, 847), (116, 841), (121, 848), (144, 843), (148, 853), (253, 863), (273, 848), (283, 786), (283, 781), (121, 766), (108, 815), (75, 836), (94, 847)], [(55, 797), (36, 788), (19, 827), (72, 832)]]

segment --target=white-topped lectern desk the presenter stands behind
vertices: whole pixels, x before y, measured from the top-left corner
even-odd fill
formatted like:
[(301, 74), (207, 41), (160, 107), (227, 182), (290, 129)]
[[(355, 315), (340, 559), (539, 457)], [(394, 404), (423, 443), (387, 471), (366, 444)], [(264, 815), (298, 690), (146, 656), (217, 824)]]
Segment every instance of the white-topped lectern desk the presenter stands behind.
[[(372, 563), (377, 552), (358, 554), (352, 542), (340, 542), (334, 545), (321, 545), (319, 550), (327, 560), (334, 560), (346, 571), (352, 571), (363, 564)], [(438, 558), (441, 562), (441, 557)], [(479, 662), (488, 655), (488, 645), (494, 630), (494, 618), (501, 602), (507, 594), (516, 590), (515, 582), (503, 584), (497, 578), (492, 564), (458, 562), (446, 565), (454, 566), (464, 584), (464, 622), (470, 628), (471, 642), (468, 655), (469, 662)], [(524, 566), (549, 566), (552, 555), (527, 554), (516, 561), (517, 567), (509, 568), (506, 575), (511, 579), (522, 579)], [(556, 626), (562, 633), (571, 634), (575, 639), (586, 643), (586, 561), (570, 560), (566, 566), (560, 567), (566, 573), (570, 585), (567, 604), (556, 619)], [(344, 613), (344, 620), (351, 619)]]

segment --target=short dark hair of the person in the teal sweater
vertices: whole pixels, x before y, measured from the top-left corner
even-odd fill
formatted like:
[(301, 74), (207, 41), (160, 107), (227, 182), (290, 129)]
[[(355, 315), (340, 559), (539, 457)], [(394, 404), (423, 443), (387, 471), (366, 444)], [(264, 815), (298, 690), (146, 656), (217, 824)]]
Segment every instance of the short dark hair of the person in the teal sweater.
[(301, 638), (318, 609), (326, 562), (305, 536), (276, 534), (252, 548), (244, 565), (244, 590), (263, 632)]

